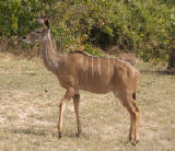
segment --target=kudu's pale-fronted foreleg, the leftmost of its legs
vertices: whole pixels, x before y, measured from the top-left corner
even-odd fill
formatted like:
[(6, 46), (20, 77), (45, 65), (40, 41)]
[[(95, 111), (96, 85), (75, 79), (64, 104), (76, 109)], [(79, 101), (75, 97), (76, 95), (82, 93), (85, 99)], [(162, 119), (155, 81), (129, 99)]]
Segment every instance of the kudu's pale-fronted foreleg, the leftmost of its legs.
[(73, 88), (69, 88), (67, 89), (66, 95), (63, 96), (63, 98), (60, 102), (60, 113), (59, 113), (59, 121), (58, 121), (58, 133), (59, 133), (59, 138), (61, 138), (61, 131), (62, 131), (62, 117), (63, 117), (63, 111), (66, 107), (66, 104), (69, 102), (70, 98), (72, 98), (74, 96), (74, 89)]

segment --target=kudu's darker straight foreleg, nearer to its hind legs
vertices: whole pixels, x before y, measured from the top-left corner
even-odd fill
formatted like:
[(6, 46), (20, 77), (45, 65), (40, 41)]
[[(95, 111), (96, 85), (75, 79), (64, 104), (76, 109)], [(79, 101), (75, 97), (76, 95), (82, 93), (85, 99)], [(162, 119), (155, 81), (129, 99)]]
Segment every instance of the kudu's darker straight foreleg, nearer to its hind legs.
[(74, 112), (75, 112), (77, 125), (78, 125), (78, 133), (77, 133), (77, 136), (79, 137), (80, 133), (81, 133), (81, 123), (80, 123), (80, 116), (79, 116), (80, 94), (74, 94), (73, 103), (74, 103)]

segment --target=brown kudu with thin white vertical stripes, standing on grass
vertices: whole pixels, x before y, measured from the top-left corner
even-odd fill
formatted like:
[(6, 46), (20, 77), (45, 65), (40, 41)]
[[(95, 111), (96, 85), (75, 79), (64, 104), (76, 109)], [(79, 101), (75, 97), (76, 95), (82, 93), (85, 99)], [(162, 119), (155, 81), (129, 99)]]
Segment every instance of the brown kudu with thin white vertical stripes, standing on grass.
[(60, 115), (58, 121), (58, 133), (61, 138), (62, 115), (66, 104), (73, 98), (77, 115), (78, 133), (81, 133), (79, 117), (79, 90), (104, 94), (114, 92), (130, 114), (129, 141), (132, 144), (139, 141), (140, 109), (136, 106), (136, 90), (139, 84), (139, 71), (129, 62), (91, 56), (81, 50), (67, 55), (55, 50), (49, 20), (39, 19), (40, 27), (23, 36), (25, 43), (39, 43), (42, 46), (42, 58), (46, 68), (55, 73), (65, 88), (66, 94), (60, 102)]

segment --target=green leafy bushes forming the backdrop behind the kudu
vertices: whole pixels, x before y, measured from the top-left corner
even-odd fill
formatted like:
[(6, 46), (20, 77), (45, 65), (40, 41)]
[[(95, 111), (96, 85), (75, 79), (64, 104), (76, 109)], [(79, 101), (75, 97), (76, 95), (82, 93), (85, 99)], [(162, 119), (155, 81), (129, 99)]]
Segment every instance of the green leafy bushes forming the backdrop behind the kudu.
[(2, 0), (0, 36), (2, 40), (25, 35), (43, 14), (50, 19), (51, 34), (62, 51), (84, 45), (93, 54), (92, 46), (118, 45), (136, 50), (144, 61), (167, 61), (175, 39), (174, 4), (174, 0)]

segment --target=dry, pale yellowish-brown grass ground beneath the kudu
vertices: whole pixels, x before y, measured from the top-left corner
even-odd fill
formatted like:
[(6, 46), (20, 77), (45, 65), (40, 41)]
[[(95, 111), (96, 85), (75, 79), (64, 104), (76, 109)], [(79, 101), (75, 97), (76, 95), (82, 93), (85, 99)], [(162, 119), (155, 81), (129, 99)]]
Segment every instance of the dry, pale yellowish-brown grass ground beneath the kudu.
[(62, 139), (57, 136), (58, 105), (65, 90), (40, 61), (0, 55), (0, 150), (170, 150), (175, 147), (175, 76), (139, 62), (140, 143), (125, 144), (129, 114), (112, 93), (81, 92), (83, 133), (75, 137), (72, 101), (66, 107)]

